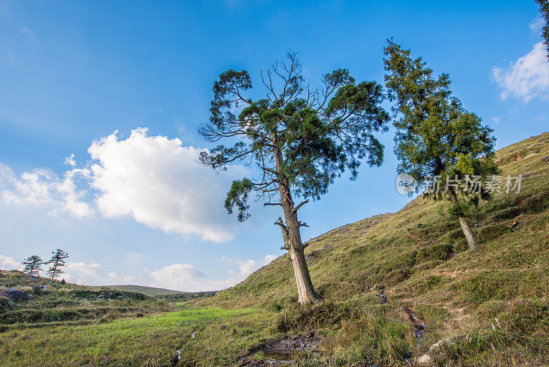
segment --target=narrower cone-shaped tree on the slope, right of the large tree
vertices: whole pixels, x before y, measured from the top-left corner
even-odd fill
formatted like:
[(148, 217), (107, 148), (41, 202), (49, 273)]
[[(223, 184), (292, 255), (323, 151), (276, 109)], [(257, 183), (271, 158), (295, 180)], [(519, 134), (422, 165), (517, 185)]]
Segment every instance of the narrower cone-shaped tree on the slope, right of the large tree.
[[(389, 100), (395, 102), (395, 117), (400, 116), (395, 120), (398, 171), (417, 181), (425, 177), (440, 180), (443, 190), (438, 194), (433, 190), (433, 197), (447, 194), (453, 204), (451, 213), (458, 217), (469, 249), (475, 250), (478, 243), (457, 194), (464, 183), (472, 182), (471, 177), (481, 187), (487, 176), (498, 173), (493, 162), (493, 130), (482, 126), (476, 114), (467, 112), (452, 97), (448, 74), (434, 78), (421, 58), (412, 60), (410, 50), (392, 40), (384, 52)], [(474, 203), (490, 198), (489, 192), (476, 191), (470, 195)]]

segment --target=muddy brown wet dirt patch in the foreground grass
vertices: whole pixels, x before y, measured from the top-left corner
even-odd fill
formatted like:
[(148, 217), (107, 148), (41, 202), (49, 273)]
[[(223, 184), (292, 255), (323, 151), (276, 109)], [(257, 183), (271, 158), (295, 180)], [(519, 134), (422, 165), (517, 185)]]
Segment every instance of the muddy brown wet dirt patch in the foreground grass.
[[(313, 330), (294, 337), (283, 335), (263, 340), (259, 345), (237, 355), (235, 365), (240, 367), (288, 366), (292, 364), (296, 351), (318, 351), (320, 339), (320, 335)], [(253, 357), (259, 352), (263, 352), (265, 359), (257, 360)]]

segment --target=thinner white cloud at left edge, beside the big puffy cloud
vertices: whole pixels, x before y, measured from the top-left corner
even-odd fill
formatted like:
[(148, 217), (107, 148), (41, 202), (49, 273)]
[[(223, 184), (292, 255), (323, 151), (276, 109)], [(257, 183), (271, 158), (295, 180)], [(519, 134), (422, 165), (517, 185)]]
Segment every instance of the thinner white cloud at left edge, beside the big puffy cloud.
[(89, 170), (73, 168), (59, 178), (47, 168), (36, 168), (17, 177), (4, 164), (0, 164), (0, 188), (6, 203), (48, 208), (49, 214), (69, 212), (83, 218), (93, 215), (89, 203), (83, 201), (85, 190), (79, 190), (75, 180), (89, 177)]

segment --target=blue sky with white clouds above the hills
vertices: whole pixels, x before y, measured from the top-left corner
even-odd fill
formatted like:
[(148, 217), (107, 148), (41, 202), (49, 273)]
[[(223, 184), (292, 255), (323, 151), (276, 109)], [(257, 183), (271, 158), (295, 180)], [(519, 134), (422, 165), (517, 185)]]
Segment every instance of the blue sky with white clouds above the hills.
[[(62, 247), (74, 282), (233, 285), (281, 254), (281, 213), (255, 205), (240, 225), (222, 199), (243, 168), (194, 162), (222, 71), (247, 69), (261, 96), (259, 70), (291, 48), (312, 82), (337, 67), (381, 82), (393, 36), (450, 74), (501, 148), (548, 131), (537, 15), (534, 1), (0, 1), (0, 268)], [(406, 204), (392, 135), (382, 168), (305, 205), (304, 239)]]

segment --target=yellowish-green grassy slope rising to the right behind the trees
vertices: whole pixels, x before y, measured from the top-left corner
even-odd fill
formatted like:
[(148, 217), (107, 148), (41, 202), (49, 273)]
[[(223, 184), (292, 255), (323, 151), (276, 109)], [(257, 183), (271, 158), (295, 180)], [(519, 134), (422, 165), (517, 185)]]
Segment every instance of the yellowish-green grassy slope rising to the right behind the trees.
[[(328, 300), (373, 304), (386, 293), (396, 312), (402, 305), (413, 307), (428, 325), (416, 353), (441, 337), (489, 331), (493, 318), (505, 340), (469, 341), (478, 348), (452, 351), (454, 357), (470, 364), (505, 364), (509, 358), (547, 353), (549, 162), (541, 158), (548, 155), (549, 133), (497, 152), (503, 175), (532, 175), (523, 180), (519, 194), (498, 194), (472, 208), (469, 219), (481, 243), (476, 253), (466, 251), (446, 201), (419, 197), (395, 214), (373, 216), (310, 241), (305, 254), (316, 288)], [(295, 300), (285, 255), (199, 304), (284, 308)], [(498, 335), (486, 336), (493, 337)], [(492, 353), (494, 344), (516, 353)]]

